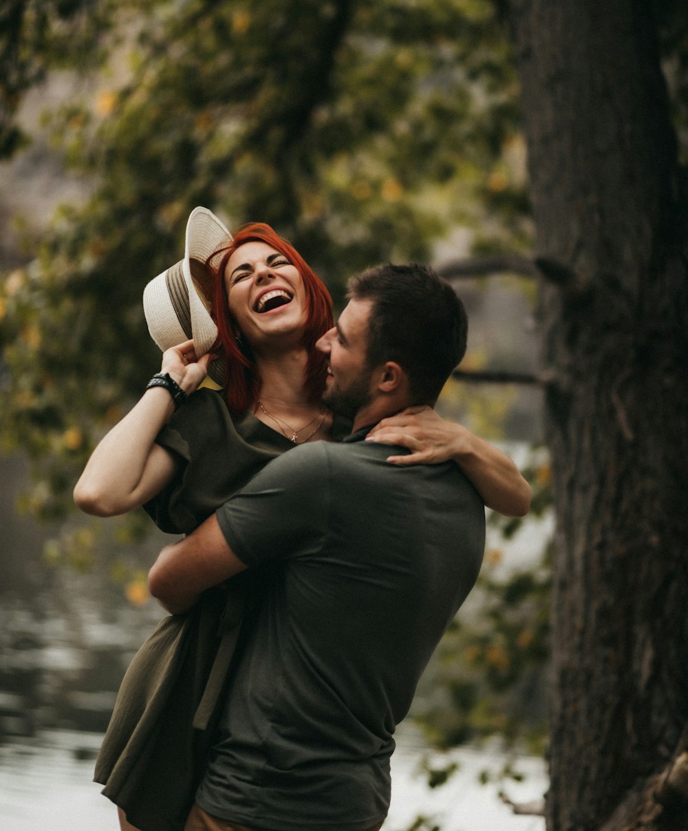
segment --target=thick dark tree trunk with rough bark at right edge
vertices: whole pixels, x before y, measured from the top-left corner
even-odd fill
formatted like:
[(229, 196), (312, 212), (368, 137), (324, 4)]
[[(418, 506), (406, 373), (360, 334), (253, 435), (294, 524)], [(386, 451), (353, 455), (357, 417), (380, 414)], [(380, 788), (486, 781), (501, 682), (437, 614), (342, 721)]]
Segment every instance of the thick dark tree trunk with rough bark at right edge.
[(549, 831), (688, 828), (653, 798), (688, 725), (688, 235), (649, 6), (510, 0), (537, 250), (572, 273), (540, 295)]

